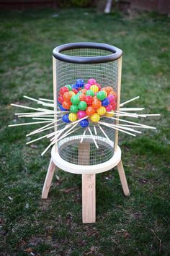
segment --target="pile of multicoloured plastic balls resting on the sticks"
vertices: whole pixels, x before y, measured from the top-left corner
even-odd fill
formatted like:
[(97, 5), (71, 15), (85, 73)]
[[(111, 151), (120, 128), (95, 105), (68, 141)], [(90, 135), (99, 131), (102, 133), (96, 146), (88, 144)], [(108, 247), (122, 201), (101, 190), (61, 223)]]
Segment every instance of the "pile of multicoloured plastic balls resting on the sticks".
[[(58, 104), (61, 111), (68, 111), (62, 117), (64, 122), (81, 119), (81, 127), (88, 127), (90, 121), (98, 122), (104, 116), (114, 115), (117, 93), (111, 86), (102, 88), (93, 78), (86, 84), (84, 80), (78, 79), (75, 84), (60, 88)], [(84, 119), (86, 116), (88, 118)]]

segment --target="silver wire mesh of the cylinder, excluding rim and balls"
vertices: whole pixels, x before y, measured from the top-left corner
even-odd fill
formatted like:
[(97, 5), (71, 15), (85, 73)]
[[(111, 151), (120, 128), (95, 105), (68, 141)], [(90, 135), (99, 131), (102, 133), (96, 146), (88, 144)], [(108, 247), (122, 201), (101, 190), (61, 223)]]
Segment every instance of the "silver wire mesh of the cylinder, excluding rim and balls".
[[(94, 57), (106, 56), (109, 55), (110, 52), (98, 48), (75, 48), (63, 51), (62, 54), (66, 54), (68, 56)], [(105, 86), (111, 86), (113, 90), (117, 92), (117, 68), (117, 60), (99, 64), (73, 64), (56, 59), (57, 98), (59, 90), (63, 86), (72, 85), (78, 79), (84, 80), (86, 83), (90, 78), (94, 78), (102, 88)], [(59, 111), (59, 104), (57, 108)], [(101, 118), (101, 121), (107, 122), (108, 124), (114, 124), (112, 119), (108, 119), (104, 116)], [(62, 120), (61, 123), (63, 123)], [(97, 135), (94, 133), (94, 125), (97, 129)], [(60, 128), (65, 126), (66, 123), (63, 123)], [(58, 153), (61, 155), (61, 158), (69, 163), (83, 165), (104, 163), (112, 158), (115, 142), (114, 129), (102, 127), (111, 140), (111, 142), (109, 142), (101, 129), (99, 129), (98, 124), (93, 123), (92, 121), (89, 122), (91, 132), (99, 146), (97, 149), (88, 129), (86, 130), (83, 143), (80, 143), (81, 137), (84, 133), (84, 128), (80, 126), (78, 127), (79, 129), (76, 129), (70, 136), (68, 135), (67, 137), (64, 137), (63, 140), (58, 141)]]

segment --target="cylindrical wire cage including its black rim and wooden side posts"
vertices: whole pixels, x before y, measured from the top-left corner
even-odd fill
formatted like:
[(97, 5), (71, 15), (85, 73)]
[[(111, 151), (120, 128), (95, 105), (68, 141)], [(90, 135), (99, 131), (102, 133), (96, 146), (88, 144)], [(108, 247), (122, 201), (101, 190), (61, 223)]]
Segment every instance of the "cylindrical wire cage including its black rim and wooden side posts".
[[(56, 47), (53, 50), (55, 111), (63, 109), (61, 102), (58, 101), (61, 88), (66, 87), (66, 85), (71, 85), (74, 88), (77, 80), (84, 80), (84, 84), (87, 84), (91, 78), (96, 80), (101, 90), (106, 87), (112, 88), (117, 95), (115, 110), (118, 110), (120, 105), (121, 56), (122, 51), (120, 49), (103, 43), (68, 43)], [(81, 87), (79, 90), (83, 88)], [(68, 110), (68, 113), (70, 112)], [(56, 117), (56, 119), (58, 118)], [(91, 121), (90, 116), (88, 120), (88, 127), (84, 128), (78, 124), (75, 130), (71, 131), (71, 135), (56, 142), (59, 155), (68, 163), (92, 166), (109, 161), (114, 155), (117, 145), (117, 131), (115, 132), (114, 129), (107, 126), (102, 127), (97, 121)], [(100, 116), (100, 121), (106, 122), (108, 125), (116, 122), (106, 115)], [(58, 124), (60, 124), (60, 129), (67, 125), (63, 119), (58, 121)], [(84, 129), (86, 129), (86, 134), (81, 143)], [(97, 145), (95, 145), (94, 140)]]

